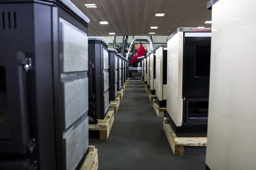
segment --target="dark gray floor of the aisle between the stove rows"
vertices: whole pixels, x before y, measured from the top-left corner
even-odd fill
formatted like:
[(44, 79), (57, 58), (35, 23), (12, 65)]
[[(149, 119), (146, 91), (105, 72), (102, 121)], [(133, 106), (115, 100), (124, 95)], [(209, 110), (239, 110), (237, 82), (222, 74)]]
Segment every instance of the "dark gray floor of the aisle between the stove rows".
[[(140, 80), (126, 88), (107, 141), (89, 138), (98, 148), (99, 170), (205, 170), (205, 148), (174, 156)], [(199, 150), (199, 151), (198, 151)]]

